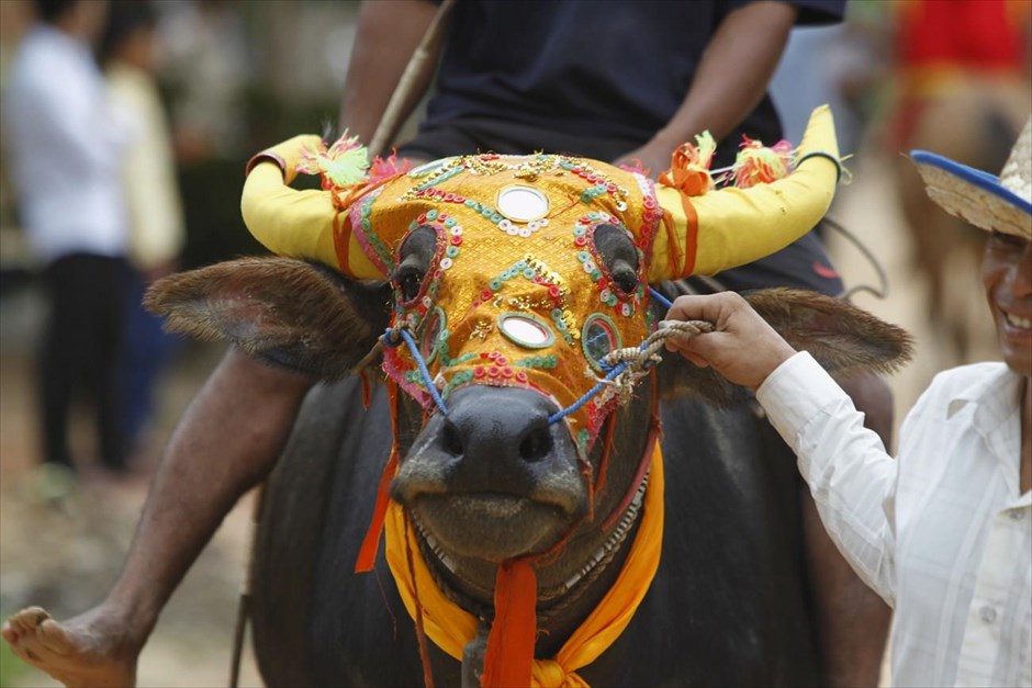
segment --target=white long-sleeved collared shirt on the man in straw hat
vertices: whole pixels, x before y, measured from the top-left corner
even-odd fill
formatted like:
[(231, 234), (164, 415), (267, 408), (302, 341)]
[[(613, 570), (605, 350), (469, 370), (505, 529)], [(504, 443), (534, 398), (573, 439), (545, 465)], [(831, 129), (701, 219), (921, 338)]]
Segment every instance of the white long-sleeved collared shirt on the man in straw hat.
[(1003, 363), (940, 373), (904, 421), (896, 461), (808, 353), (756, 393), (825, 528), (895, 609), (896, 685), (1032, 685), (1023, 383)]

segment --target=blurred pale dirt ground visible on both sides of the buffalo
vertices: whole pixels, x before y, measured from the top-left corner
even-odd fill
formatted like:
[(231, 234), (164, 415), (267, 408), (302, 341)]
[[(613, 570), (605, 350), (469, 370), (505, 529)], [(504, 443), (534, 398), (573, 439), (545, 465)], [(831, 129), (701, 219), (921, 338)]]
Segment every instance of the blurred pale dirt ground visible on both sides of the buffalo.
[[(860, 159), (851, 167), (853, 183), (842, 189), (831, 216), (861, 235), (889, 274), (887, 300), (860, 294), (855, 303), (917, 338), (915, 362), (889, 380), (898, 425), (934, 371), (952, 361), (928, 323), (924, 287), (908, 266), (909, 243), (885, 160)], [(848, 241), (832, 234), (828, 243), (849, 285), (877, 283), (870, 263)], [(958, 279), (968, 280), (972, 293), (980, 297), (974, 273)], [(133, 476), (112, 482), (86, 471), (79, 484), (70, 485), (34, 467), (31, 360), (38, 327), (34, 298), (31, 292), (16, 295), (0, 311), (0, 610), (9, 613), (40, 604), (67, 618), (99, 601), (117, 575), (160, 447), (220, 350), (189, 347), (179, 357), (161, 388), (149, 451)], [(984, 353), (992, 358), (991, 348)], [(89, 435), (77, 435), (79, 445), (89, 447)], [(226, 685), (249, 518), (245, 498), (172, 597), (141, 657), (142, 686)], [(4, 685), (55, 685), (8, 653), (0, 653), (0, 663)], [(243, 685), (260, 685), (249, 653)]]

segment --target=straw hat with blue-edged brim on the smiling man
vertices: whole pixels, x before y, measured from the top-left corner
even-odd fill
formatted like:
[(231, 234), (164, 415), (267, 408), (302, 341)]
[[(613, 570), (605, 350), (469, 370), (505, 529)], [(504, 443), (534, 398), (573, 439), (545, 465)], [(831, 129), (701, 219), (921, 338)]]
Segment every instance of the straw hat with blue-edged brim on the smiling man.
[(929, 198), (947, 213), (989, 232), (1032, 240), (1032, 119), (998, 178), (927, 150), (912, 150), (910, 157)]

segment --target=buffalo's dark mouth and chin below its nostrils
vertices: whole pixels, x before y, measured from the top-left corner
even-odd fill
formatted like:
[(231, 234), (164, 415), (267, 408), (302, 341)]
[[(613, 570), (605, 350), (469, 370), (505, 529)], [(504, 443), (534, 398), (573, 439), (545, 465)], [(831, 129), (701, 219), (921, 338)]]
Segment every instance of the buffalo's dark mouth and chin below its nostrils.
[(424, 494), (410, 511), (439, 554), (491, 562), (547, 551), (575, 518), (554, 503), (501, 493)]

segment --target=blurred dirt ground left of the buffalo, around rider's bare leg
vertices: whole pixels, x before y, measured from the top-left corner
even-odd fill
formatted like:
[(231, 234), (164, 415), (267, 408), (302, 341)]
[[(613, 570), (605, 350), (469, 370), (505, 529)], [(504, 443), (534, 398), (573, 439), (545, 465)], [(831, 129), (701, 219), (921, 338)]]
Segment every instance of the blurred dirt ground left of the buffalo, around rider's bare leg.
[[(3, 304), (0, 325), (0, 609), (10, 613), (41, 605), (68, 618), (100, 601), (114, 582), (133, 535), (158, 451), (220, 350), (190, 347), (178, 357), (161, 388), (149, 450), (133, 474), (112, 480), (87, 466), (82, 480), (34, 466), (31, 348), (8, 335), (30, 331), (20, 317), (33, 317), (32, 294)], [(81, 455), (92, 445), (85, 417), (76, 418)], [(251, 500), (229, 514), (212, 543), (172, 596), (139, 659), (141, 686), (227, 685), (237, 595), (244, 580)], [(5, 647), (4, 647), (5, 650)], [(261, 680), (249, 648), (243, 686)], [(4, 686), (56, 686), (47, 676), (0, 653)]]

